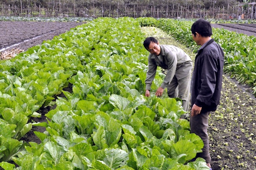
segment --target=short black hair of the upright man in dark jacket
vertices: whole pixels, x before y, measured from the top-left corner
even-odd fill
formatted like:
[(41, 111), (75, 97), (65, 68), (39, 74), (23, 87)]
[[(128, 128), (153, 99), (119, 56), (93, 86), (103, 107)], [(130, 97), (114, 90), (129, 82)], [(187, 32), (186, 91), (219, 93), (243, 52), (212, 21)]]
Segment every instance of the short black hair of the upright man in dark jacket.
[(199, 20), (195, 21), (195, 23), (193, 23), (193, 25), (191, 26), (191, 32), (195, 36), (196, 36), (195, 32), (197, 32), (202, 37), (211, 37), (212, 26), (208, 21), (199, 19)]

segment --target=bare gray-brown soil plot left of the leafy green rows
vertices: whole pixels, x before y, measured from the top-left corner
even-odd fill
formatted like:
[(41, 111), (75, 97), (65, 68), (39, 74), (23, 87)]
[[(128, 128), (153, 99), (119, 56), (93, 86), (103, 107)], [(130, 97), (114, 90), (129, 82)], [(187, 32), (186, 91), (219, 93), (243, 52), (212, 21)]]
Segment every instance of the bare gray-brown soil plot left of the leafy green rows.
[(81, 24), (83, 23), (0, 21), (0, 52), (9, 51), (12, 48), (26, 51), (44, 40), (51, 40), (54, 36)]

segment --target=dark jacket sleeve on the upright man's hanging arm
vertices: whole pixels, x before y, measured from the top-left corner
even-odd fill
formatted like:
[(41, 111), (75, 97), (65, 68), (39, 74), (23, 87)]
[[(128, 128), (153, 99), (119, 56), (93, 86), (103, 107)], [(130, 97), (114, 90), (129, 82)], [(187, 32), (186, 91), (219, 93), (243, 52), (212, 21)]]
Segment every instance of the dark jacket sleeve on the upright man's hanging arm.
[(199, 107), (210, 105), (216, 87), (216, 74), (218, 72), (217, 54), (205, 54), (202, 58), (201, 65), (201, 88), (196, 98), (195, 104)]

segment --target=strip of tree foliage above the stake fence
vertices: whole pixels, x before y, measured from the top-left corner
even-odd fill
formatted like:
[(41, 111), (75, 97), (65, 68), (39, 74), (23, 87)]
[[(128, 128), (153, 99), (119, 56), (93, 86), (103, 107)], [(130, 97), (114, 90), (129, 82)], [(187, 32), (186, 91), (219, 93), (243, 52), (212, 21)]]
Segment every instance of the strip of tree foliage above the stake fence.
[[(132, 4), (144, 4), (148, 6), (190, 6), (201, 8), (212, 8), (222, 6), (233, 6), (242, 0), (0, 0), (0, 3), (9, 3), (20, 6), (41, 6), (52, 8), (52, 6), (66, 6), (68, 8), (82, 8), (86, 6), (123, 6)], [(252, 0), (251, 0), (252, 1)]]

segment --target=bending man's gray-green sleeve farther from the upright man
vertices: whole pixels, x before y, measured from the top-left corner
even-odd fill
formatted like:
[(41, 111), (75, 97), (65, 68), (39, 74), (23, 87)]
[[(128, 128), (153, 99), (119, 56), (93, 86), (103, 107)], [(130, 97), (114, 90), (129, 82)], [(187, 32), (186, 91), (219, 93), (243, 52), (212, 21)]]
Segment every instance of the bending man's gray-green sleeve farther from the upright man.
[(151, 61), (151, 59), (148, 57), (148, 71), (147, 71), (147, 77), (145, 79), (146, 90), (151, 89), (151, 84), (156, 75), (156, 71), (157, 71), (157, 65), (153, 61)]

